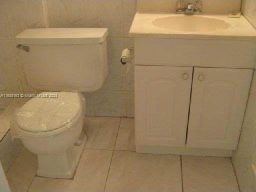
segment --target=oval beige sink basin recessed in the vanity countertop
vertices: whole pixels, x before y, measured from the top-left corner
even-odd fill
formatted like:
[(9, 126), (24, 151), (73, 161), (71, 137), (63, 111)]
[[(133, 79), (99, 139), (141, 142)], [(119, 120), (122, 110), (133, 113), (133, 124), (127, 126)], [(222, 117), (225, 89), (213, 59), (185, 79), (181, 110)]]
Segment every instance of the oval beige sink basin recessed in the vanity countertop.
[(224, 20), (196, 15), (156, 18), (152, 24), (159, 28), (185, 32), (221, 31), (230, 27)]

